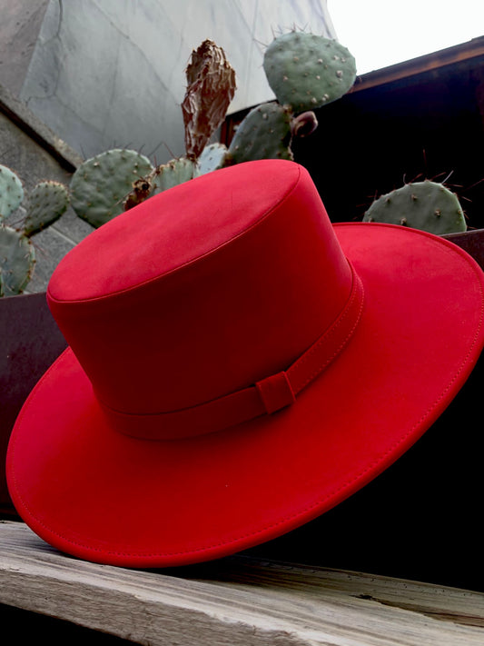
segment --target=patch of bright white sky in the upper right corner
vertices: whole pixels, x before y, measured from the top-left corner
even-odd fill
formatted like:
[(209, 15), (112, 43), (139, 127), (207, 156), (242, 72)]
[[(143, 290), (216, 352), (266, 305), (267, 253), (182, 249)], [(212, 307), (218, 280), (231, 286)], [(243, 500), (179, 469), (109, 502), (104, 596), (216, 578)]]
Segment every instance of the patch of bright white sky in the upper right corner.
[(484, 0), (328, 0), (358, 74), (484, 35)]

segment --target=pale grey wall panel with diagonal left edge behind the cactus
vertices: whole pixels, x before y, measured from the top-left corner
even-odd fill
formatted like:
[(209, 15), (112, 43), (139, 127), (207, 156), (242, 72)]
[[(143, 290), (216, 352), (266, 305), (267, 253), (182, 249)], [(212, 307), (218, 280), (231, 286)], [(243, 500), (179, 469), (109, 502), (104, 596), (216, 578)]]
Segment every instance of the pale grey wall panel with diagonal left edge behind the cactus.
[(235, 112), (273, 98), (264, 45), (293, 25), (334, 37), (326, 0), (50, 0), (19, 95), (84, 157), (130, 146), (162, 163), (184, 153), (193, 48), (224, 48)]

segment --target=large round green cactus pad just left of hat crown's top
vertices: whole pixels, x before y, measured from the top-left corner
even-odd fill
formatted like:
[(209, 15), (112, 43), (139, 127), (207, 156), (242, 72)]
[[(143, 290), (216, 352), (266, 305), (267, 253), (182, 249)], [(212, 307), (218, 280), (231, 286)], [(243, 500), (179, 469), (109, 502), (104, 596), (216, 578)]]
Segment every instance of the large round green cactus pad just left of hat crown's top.
[(134, 150), (114, 148), (87, 159), (71, 180), (71, 204), (94, 227), (123, 212), (133, 182), (152, 173), (153, 165)]

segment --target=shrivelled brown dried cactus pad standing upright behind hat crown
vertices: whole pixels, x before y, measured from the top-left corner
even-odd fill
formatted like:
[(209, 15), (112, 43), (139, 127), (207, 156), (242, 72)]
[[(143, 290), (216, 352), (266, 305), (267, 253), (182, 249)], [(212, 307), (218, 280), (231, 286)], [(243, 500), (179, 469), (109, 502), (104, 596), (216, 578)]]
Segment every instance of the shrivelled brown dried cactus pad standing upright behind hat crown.
[(185, 149), (187, 157), (197, 159), (225, 118), (236, 89), (235, 72), (222, 47), (207, 39), (193, 50), (186, 78), (182, 104)]

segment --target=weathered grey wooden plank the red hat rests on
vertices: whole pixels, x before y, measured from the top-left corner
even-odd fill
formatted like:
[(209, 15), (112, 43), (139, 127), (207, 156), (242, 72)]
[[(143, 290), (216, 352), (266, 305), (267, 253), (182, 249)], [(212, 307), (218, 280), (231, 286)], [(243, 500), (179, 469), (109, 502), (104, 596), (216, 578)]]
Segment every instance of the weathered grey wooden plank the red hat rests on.
[(0, 522), (0, 603), (140, 644), (482, 646), (484, 594), (233, 556), (164, 571), (83, 562)]

